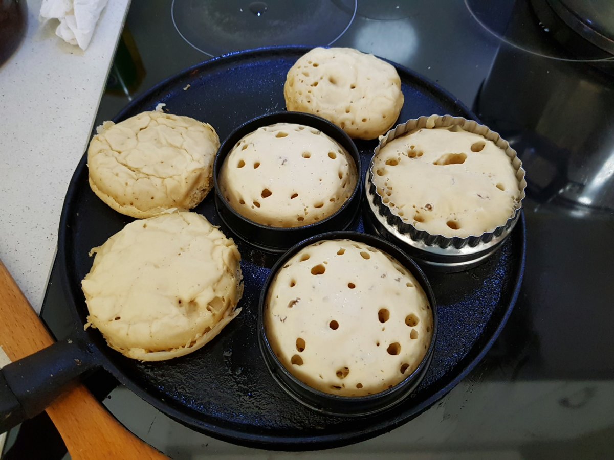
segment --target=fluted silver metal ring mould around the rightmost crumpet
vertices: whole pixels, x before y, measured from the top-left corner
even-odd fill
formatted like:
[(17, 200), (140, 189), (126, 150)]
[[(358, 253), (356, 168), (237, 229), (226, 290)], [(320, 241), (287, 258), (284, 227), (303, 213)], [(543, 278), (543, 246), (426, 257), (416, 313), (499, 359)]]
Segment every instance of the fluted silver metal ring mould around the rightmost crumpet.
[[(492, 140), (497, 147), (502, 148), (511, 158), (511, 164), (516, 169), (516, 178), (521, 191), (516, 210), (505, 224), (491, 232), (465, 238), (433, 235), (417, 229), (413, 224), (404, 222), (384, 204), (383, 197), (378, 194), (373, 183), (373, 158), (392, 139), (416, 129), (448, 128), (453, 125), (459, 125), (465, 131), (480, 134), (485, 139)], [(371, 158), (371, 164), (365, 178), (367, 194), (367, 212), (365, 213), (367, 218), (365, 221), (381, 236), (401, 245), (411, 256), (418, 259), (419, 263), (446, 272), (457, 272), (472, 268), (492, 255), (518, 222), (525, 197), (524, 190), (527, 185), (522, 162), (507, 140), (502, 139), (497, 132), (491, 131), (476, 121), (452, 117), (451, 115), (431, 115), (430, 117), (408, 120), (379, 138), (379, 144), (375, 148), (373, 158)]]

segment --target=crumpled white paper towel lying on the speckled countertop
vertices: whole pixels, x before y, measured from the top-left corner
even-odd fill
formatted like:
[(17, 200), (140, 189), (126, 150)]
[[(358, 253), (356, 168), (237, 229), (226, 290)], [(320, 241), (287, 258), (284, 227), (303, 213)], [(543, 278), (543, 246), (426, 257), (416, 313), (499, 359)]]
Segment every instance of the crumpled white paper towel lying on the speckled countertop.
[(42, 0), (41, 20), (60, 20), (55, 34), (82, 50), (90, 44), (96, 23), (108, 0)]

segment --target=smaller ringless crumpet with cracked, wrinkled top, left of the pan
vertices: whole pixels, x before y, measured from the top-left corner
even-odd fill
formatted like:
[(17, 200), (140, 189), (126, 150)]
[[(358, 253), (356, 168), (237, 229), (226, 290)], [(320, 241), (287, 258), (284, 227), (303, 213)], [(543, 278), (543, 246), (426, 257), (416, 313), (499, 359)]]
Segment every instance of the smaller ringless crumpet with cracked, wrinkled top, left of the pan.
[(192, 209), (213, 186), (215, 129), (156, 110), (105, 121), (87, 153), (91, 190), (117, 212), (146, 218)]

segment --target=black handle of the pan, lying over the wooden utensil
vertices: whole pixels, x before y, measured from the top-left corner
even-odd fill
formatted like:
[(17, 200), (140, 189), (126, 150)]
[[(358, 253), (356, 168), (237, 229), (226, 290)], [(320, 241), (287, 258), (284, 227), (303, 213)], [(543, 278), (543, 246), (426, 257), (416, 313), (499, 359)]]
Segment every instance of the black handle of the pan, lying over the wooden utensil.
[(0, 433), (38, 415), (98, 366), (79, 340), (62, 340), (0, 369)]

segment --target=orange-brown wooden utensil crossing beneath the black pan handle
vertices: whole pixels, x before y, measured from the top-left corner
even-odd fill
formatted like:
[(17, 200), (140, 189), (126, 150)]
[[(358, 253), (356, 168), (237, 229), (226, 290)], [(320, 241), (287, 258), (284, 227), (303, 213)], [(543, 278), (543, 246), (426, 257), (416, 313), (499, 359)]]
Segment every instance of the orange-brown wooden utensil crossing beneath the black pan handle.
[[(53, 338), (0, 261), (0, 345), (11, 361), (52, 345)], [(83, 385), (47, 408), (74, 459), (164, 459), (125, 429)]]

